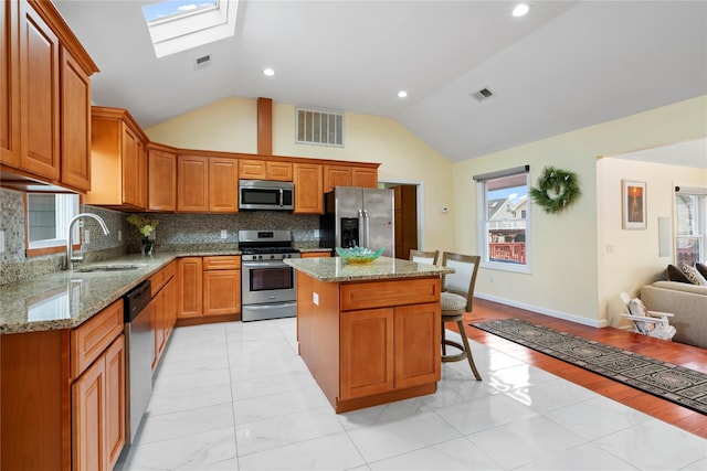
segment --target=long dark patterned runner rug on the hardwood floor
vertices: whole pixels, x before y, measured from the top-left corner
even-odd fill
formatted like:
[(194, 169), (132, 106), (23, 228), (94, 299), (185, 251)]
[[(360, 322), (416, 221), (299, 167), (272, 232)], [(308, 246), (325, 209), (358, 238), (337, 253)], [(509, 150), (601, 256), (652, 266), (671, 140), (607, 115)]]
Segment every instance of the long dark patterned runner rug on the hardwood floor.
[(471, 325), (707, 415), (707, 374), (520, 319)]

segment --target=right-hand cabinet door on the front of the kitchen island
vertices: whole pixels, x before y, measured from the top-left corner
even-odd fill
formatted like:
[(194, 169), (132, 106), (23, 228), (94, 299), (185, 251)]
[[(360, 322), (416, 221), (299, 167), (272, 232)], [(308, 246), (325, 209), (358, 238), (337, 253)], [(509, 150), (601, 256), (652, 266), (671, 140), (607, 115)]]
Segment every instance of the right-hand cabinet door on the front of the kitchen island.
[(395, 308), (395, 388), (440, 381), (440, 303)]

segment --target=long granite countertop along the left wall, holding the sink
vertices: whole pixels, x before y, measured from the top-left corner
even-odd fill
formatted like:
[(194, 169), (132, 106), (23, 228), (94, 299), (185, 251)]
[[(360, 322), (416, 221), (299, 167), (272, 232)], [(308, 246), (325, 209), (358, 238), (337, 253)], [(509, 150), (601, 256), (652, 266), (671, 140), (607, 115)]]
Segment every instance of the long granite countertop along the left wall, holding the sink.
[[(0, 334), (72, 329), (91, 319), (178, 257), (240, 255), (239, 250), (128, 255), (75, 264), (30, 281), (0, 287)], [(136, 265), (127, 270), (84, 271), (99, 266)]]

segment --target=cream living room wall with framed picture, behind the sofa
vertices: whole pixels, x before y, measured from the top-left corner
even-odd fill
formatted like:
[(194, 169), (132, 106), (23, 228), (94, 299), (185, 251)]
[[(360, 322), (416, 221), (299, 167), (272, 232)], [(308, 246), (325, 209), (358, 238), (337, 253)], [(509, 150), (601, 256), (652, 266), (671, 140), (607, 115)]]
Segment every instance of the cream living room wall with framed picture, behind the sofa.
[[(674, 224), (675, 186), (707, 188), (707, 169), (603, 158), (597, 162), (599, 309), (610, 325), (625, 327), (619, 314), (619, 293), (640, 295), (643, 285), (665, 279), (664, 271), (675, 259), (675, 244), (667, 257), (658, 254), (658, 217)], [(646, 183), (646, 228), (622, 228), (622, 180)]]

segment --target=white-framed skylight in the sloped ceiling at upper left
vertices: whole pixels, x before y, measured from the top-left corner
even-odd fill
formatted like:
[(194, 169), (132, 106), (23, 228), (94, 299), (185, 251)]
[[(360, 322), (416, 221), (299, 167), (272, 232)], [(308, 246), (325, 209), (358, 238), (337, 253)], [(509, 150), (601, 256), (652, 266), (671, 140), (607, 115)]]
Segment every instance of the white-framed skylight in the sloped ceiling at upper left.
[(143, 7), (155, 54), (163, 57), (235, 34), (238, 0), (168, 0)]

